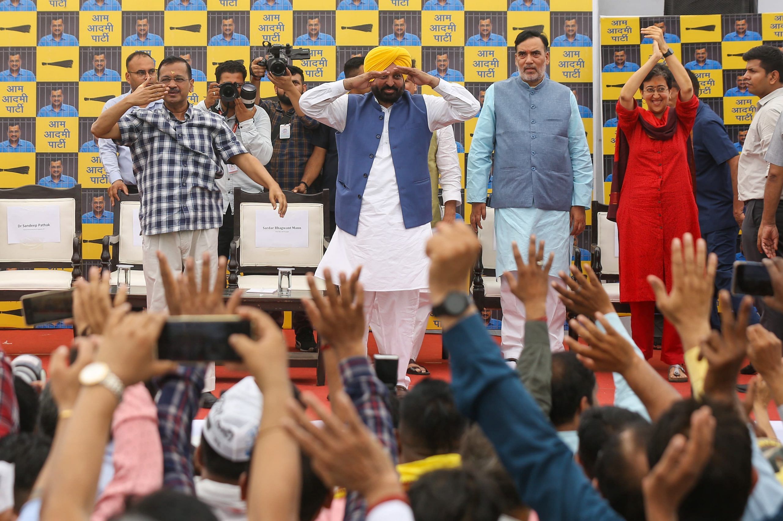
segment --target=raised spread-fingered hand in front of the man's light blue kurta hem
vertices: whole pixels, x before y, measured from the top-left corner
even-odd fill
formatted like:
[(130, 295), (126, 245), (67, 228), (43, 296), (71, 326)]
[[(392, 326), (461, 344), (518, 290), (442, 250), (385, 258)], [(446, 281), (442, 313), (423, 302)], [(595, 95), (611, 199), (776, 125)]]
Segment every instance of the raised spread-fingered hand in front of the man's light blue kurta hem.
[(517, 262), (517, 278), (511, 272), (503, 273), (511, 293), (522, 304), (530, 320), (547, 316), (547, 293), (549, 293), (549, 271), (552, 268), (554, 253), (550, 253), (547, 263), (543, 262), (544, 242), (539, 243), (536, 251), (536, 235), (530, 235), (528, 244), (528, 264), (522, 259), (517, 243), (511, 243), (514, 260)]

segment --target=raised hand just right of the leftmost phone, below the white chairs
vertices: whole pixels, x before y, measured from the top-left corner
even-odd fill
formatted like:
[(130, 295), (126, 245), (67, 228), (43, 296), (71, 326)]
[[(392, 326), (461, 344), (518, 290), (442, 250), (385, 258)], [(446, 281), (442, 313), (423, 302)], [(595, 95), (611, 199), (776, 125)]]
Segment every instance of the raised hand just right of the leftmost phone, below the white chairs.
[(88, 276), (89, 282), (80, 278), (74, 284), (74, 325), (79, 335), (101, 335), (105, 331), (106, 316), (110, 309), (124, 304), (127, 300), (128, 287), (124, 284), (119, 286), (112, 302), (109, 294), (109, 272), (101, 274), (99, 268), (93, 266)]

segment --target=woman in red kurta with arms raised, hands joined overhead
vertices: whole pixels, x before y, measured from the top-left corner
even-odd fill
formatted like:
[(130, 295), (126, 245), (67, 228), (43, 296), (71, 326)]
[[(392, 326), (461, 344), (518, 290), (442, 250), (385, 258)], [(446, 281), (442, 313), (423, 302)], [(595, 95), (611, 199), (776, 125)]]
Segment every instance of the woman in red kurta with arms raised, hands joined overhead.
[[(628, 143), (617, 227), (620, 300), (630, 304), (634, 342), (651, 358), (655, 294), (647, 277), (655, 275), (671, 289), (672, 239), (685, 232), (700, 236), (687, 150), (698, 98), (677, 56), (666, 56), (669, 46), (663, 31), (653, 26), (641, 32), (653, 38), (653, 55), (630, 77), (617, 102), (619, 132)], [(662, 57), (670, 70), (659, 64)], [(677, 109), (669, 109), (674, 79), (681, 88), (680, 98)], [(637, 88), (648, 110), (637, 106), (633, 98)], [(669, 322), (663, 326), (661, 360), (669, 365), (670, 381), (687, 381), (682, 342)]]

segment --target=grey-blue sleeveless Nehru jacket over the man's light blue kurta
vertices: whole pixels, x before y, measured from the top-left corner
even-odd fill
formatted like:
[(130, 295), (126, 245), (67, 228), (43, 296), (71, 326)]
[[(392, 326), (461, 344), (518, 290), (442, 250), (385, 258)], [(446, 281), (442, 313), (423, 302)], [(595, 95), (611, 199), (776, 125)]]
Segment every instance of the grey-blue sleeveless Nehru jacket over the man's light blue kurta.
[(549, 79), (539, 88), (519, 77), (494, 85), (494, 208), (571, 210), (574, 173), (568, 156), (571, 90)]

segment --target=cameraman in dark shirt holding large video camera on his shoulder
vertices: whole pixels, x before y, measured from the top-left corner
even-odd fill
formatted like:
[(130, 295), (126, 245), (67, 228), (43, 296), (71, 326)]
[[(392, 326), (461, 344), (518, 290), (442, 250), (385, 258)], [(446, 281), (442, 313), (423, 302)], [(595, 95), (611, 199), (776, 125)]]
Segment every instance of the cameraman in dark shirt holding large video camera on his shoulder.
[[(275, 86), (277, 101), (261, 99), (258, 105), (269, 113), (272, 121), (272, 160), (266, 169), (283, 190), (298, 193), (320, 192), (320, 175), (329, 146), (327, 127), (319, 124), (299, 108), (299, 98), (307, 90), (305, 74), (290, 65), (288, 59), (301, 59), (298, 52), (307, 49), (285, 49), (282, 58), (280, 45), (265, 45), (270, 56), (256, 58), (251, 65), (251, 81), (258, 88), (262, 77)], [(309, 56), (309, 51), (307, 52)], [(269, 66), (269, 71), (267, 70)], [(267, 72), (271, 74), (267, 74)], [(280, 75), (283, 74), (283, 75)], [(283, 313), (272, 313), (272, 318), (283, 323)], [(312, 334), (312, 325), (304, 311), (294, 311), (292, 326), (296, 333), (296, 347), (315, 351), (318, 347)]]

